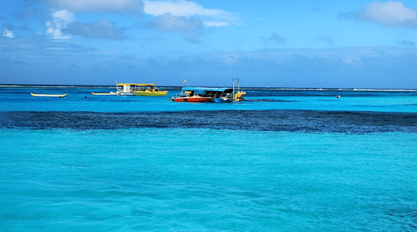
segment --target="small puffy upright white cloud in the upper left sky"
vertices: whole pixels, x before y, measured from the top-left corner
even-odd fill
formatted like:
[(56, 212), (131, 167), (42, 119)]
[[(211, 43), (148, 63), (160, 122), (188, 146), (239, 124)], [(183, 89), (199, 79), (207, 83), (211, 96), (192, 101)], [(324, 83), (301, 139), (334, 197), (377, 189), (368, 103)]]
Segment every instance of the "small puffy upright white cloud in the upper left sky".
[(71, 35), (65, 35), (62, 30), (67, 28), (68, 24), (74, 22), (74, 14), (67, 10), (58, 10), (52, 14), (52, 17), (54, 17), (54, 21), (47, 22), (47, 33), (51, 34), (52, 37), (57, 40), (71, 38)]

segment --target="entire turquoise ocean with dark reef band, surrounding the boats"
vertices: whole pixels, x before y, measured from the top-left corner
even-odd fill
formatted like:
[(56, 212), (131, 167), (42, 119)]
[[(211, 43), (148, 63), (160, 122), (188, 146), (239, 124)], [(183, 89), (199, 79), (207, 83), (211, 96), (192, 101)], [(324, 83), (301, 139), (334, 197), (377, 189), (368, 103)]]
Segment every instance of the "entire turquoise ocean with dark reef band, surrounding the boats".
[(417, 90), (162, 89), (0, 86), (0, 231), (417, 231)]

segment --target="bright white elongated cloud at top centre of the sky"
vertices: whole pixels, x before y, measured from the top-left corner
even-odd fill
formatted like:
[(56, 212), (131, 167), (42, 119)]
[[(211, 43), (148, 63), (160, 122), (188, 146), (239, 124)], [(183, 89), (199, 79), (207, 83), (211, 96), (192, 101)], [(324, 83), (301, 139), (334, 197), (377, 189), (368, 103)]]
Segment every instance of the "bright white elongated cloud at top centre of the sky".
[(205, 26), (229, 26), (234, 24), (238, 17), (220, 9), (206, 9), (192, 1), (144, 1), (144, 12), (148, 15), (160, 16), (168, 13), (177, 17), (199, 17), (208, 18), (204, 21)]

